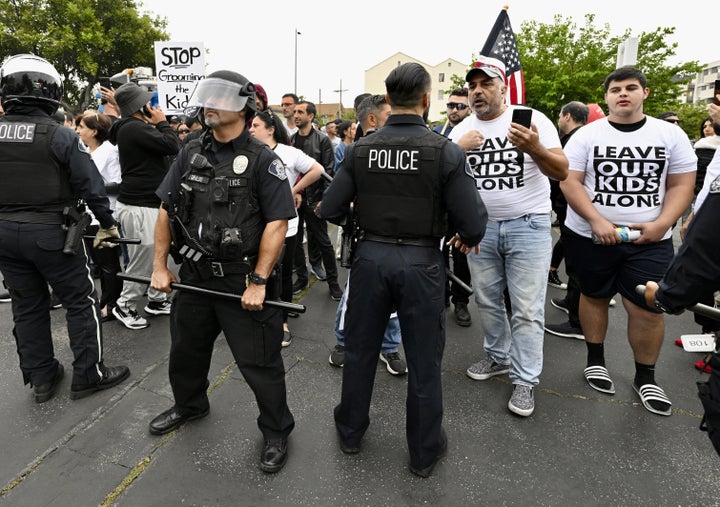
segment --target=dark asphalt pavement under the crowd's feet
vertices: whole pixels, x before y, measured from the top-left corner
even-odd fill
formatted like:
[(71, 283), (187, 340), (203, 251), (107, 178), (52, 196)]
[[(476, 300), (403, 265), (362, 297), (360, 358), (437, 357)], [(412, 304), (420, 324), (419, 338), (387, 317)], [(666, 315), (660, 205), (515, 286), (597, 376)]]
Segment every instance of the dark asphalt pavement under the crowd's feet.
[[(341, 270), (341, 282), (345, 276)], [(547, 322), (565, 318), (549, 304), (562, 295), (548, 288)], [(407, 380), (380, 361), (362, 451), (340, 451), (332, 409), (342, 370), (328, 363), (337, 303), (324, 282), (313, 280), (300, 294), (307, 312), (290, 320), (295, 339), (283, 357), (296, 427), (287, 465), (274, 475), (258, 468), (257, 406), (222, 337), (209, 374), (210, 414), (157, 437), (148, 423), (173, 403), (167, 316), (150, 316), (150, 327), (137, 331), (105, 324), (105, 361), (128, 365), (126, 382), (71, 401), (66, 375), (52, 400), (36, 404), (22, 384), (10, 305), (0, 304), (0, 505), (718, 505), (719, 457), (698, 429), (695, 383), (707, 375), (693, 368), (701, 354), (673, 343), (698, 326), (689, 312), (666, 317), (657, 379), (673, 414), (657, 416), (632, 389), (627, 320), (617, 299), (605, 346), (617, 393), (586, 384), (582, 341), (546, 334), (528, 418), (508, 411), (507, 376), (478, 382), (465, 375), (483, 354), (480, 315), (471, 302), (473, 325), (461, 328), (450, 309), (443, 358), (449, 450), (428, 479), (408, 471)], [(52, 323), (56, 356), (70, 370), (64, 310), (53, 311)]]

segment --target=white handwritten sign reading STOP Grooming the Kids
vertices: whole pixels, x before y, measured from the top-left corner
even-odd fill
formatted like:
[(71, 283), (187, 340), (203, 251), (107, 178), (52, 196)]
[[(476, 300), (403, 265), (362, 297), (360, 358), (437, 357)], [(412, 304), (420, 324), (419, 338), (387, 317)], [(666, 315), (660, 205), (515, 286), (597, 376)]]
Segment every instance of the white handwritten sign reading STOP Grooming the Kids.
[(155, 41), (158, 105), (166, 115), (182, 114), (195, 85), (205, 77), (202, 42)]

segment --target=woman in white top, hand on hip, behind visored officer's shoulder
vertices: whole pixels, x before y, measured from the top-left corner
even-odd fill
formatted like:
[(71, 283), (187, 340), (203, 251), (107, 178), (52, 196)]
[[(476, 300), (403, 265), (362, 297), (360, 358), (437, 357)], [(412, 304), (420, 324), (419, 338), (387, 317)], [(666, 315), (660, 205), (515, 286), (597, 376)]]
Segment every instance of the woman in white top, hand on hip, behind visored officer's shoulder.
[[(255, 115), (250, 127), (250, 135), (258, 141), (267, 144), (285, 164), (287, 181), (295, 200), (295, 209), (300, 207), (302, 195), (300, 192), (308, 185), (316, 182), (325, 169), (314, 158), (289, 145), (287, 131), (283, 121), (271, 110), (262, 111)], [(285, 235), (285, 250), (281, 263), (282, 293), (280, 299), (292, 301), (292, 264), (293, 253), (295, 252), (296, 235), (298, 229), (297, 216), (288, 221), (288, 231)], [(288, 312), (283, 312), (283, 347), (292, 342), (292, 334), (288, 327)]]

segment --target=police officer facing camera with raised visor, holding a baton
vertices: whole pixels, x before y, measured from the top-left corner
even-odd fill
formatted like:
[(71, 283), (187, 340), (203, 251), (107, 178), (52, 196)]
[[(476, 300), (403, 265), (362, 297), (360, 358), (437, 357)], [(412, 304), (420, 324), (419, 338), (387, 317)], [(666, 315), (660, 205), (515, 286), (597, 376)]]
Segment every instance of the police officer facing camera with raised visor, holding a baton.
[(285, 464), (295, 423), (280, 353), (282, 310), (263, 301), (280, 295), (274, 267), (295, 205), (282, 161), (246, 128), (255, 111), (251, 82), (236, 72), (213, 72), (198, 84), (190, 107), (208, 129), (183, 147), (158, 188), (163, 206), (152, 286), (171, 290), (172, 239), (185, 256), (183, 284), (242, 294), (242, 304), (184, 291), (175, 295), (169, 365), (175, 405), (152, 420), (150, 433), (168, 433), (209, 413), (208, 369), (223, 332), (260, 409), (260, 468), (274, 473)]

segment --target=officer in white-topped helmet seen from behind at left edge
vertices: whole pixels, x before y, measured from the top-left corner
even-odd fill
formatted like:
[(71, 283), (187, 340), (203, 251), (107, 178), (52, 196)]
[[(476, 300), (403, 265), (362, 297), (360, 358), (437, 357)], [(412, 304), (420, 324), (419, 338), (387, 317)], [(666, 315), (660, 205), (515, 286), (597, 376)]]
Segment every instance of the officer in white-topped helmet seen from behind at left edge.
[(67, 310), (75, 357), (71, 399), (130, 375), (126, 366), (103, 363), (100, 309), (81, 231), (71, 227), (79, 241), (74, 247), (65, 244), (65, 227), (74, 222), (69, 217), (81, 218), (80, 199), (100, 222), (96, 246), (119, 234), (90, 154), (75, 131), (51, 117), (62, 93), (60, 75), (38, 56), (15, 55), (0, 68), (6, 111), (0, 117), (0, 271), (12, 296), (23, 380), (32, 385), (38, 403), (53, 397), (64, 374), (53, 352), (48, 284)]

